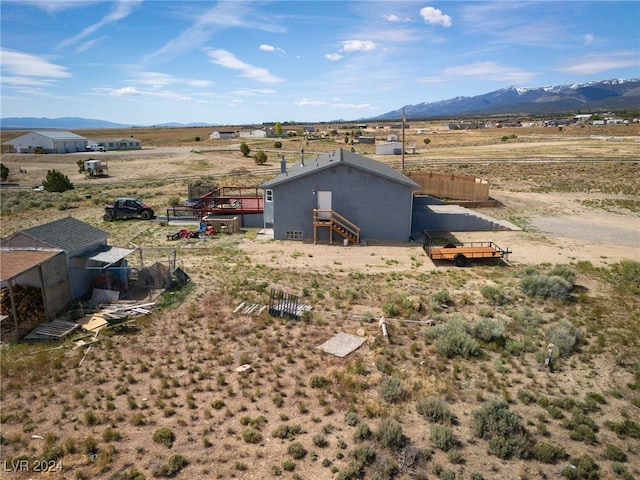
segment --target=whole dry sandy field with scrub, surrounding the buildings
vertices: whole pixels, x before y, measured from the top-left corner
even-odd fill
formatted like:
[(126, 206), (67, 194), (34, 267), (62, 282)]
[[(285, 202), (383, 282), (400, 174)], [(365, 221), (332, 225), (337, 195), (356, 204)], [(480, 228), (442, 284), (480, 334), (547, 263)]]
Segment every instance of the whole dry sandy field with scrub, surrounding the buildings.
[[(75, 185), (2, 190), (3, 237), (73, 215), (113, 245), (175, 248), (193, 282), (101, 331), (88, 354), (71, 341), (2, 347), (2, 478), (37, 478), (44, 460), (54, 479), (640, 478), (640, 127), (425, 127), (438, 133), (409, 136), (418, 153), (405, 167), (488, 180), (501, 206), (482, 211), (523, 230), (453, 234), (510, 246), (510, 265), (458, 269), (419, 243), (345, 248), (255, 230), (169, 242), (162, 222), (101, 220), (115, 196), (162, 214), (191, 182), (256, 185), (280, 151), (295, 162), (302, 148), (351, 148), (341, 140), (251, 142), (266, 166), (237, 140), (192, 140), (212, 129), (127, 132), (138, 152), (3, 155), (21, 185), (52, 168)], [(107, 159), (108, 178), (78, 172), (91, 156)], [(313, 310), (234, 313), (271, 288)], [(365, 343), (344, 358), (317, 348), (338, 332)]]

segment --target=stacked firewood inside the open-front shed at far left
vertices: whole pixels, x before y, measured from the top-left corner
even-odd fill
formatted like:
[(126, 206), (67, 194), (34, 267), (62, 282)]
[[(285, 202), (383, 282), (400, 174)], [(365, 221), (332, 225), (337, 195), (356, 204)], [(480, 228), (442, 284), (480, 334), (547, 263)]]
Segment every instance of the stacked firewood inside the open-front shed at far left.
[[(18, 333), (20, 337), (46, 321), (42, 292), (39, 288), (15, 285), (13, 287), (13, 298), (18, 313)], [(2, 314), (7, 316), (0, 324), (0, 338), (7, 341), (13, 340), (16, 332), (8, 288), (0, 289), (0, 305)]]

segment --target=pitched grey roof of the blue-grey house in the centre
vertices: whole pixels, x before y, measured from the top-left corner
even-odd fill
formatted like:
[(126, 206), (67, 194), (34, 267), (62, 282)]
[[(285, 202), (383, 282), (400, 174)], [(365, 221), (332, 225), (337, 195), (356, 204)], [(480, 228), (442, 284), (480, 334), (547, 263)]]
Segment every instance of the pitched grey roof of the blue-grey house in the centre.
[(282, 183), (290, 182), (296, 178), (333, 168), (337, 165), (347, 165), (358, 170), (369, 172), (379, 177), (384, 177), (411, 188), (422, 188), (413, 180), (394, 170), (386, 163), (378, 162), (371, 158), (363, 157), (357, 153), (338, 148), (328, 153), (318, 155), (316, 158), (304, 160), (304, 163), (297, 163), (288, 168), (286, 173), (281, 173), (277, 177), (261, 185), (262, 188), (271, 188)]

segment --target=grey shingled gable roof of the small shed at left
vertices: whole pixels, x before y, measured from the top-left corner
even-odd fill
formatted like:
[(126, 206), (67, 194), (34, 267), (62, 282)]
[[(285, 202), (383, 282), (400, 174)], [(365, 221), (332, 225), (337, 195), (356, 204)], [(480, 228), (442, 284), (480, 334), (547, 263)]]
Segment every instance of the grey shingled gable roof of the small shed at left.
[(73, 217), (27, 228), (20, 233), (67, 252), (82, 249), (85, 245), (105, 240), (109, 236), (107, 232)]

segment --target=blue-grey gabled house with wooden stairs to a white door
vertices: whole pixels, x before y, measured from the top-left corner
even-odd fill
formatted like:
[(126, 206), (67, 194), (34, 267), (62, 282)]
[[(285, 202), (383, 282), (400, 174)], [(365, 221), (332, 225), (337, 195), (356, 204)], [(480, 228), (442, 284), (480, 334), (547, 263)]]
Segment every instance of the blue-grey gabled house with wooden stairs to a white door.
[[(301, 159), (261, 185), (265, 228), (279, 240), (406, 241), (420, 185), (390, 166), (343, 149)], [(357, 236), (339, 233), (349, 225)], [(327, 227), (327, 228), (323, 228)], [(344, 237), (344, 238), (343, 238)]]

